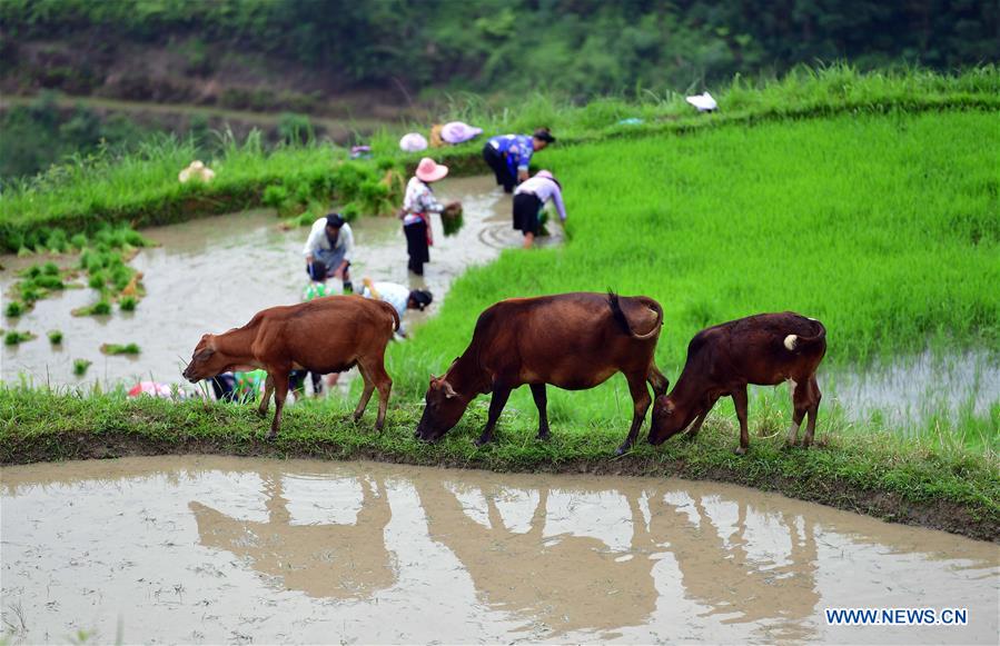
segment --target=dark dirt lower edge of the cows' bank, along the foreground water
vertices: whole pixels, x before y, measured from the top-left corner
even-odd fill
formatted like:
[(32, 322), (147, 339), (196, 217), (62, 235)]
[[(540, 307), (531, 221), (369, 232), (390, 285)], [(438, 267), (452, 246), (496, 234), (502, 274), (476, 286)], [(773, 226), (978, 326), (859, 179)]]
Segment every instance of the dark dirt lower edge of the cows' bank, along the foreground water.
[(67, 459), (106, 459), (155, 455), (232, 455), (276, 459), (314, 458), (331, 460), (373, 460), (416, 466), (485, 468), (509, 473), (591, 474), (613, 476), (680, 477), (692, 480), (732, 483), (778, 491), (810, 503), (873, 516), (891, 523), (940, 529), (978, 540), (1000, 544), (1000, 519), (983, 517), (976, 510), (947, 500), (913, 503), (889, 491), (867, 490), (838, 479), (761, 475), (752, 469), (709, 467), (662, 455), (626, 456), (618, 459), (573, 458), (567, 460), (497, 461), (487, 451), (471, 457), (454, 457), (434, 451), (383, 450), (336, 440), (298, 441), (279, 438), (267, 441), (263, 434), (217, 437), (176, 436), (157, 439), (129, 431), (65, 434), (58, 438), (27, 438), (8, 447), (0, 464), (31, 464)]

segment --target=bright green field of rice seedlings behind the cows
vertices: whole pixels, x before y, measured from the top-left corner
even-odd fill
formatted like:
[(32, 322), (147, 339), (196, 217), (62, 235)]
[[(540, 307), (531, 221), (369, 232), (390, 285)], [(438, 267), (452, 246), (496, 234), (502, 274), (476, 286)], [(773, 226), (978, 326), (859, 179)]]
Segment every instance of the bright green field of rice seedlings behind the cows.
[[(672, 380), (695, 331), (771, 310), (823, 320), (828, 367), (928, 345), (1000, 352), (996, 122), (842, 116), (545, 151), (571, 241), (507, 250), (457, 280), (418, 342), (394, 348), (397, 391), (420, 396), (496, 300), (606, 287), (661, 301), (657, 361)], [(525, 392), (513, 401), (532, 406)], [(616, 418), (627, 388), (614, 378), (549, 402), (574, 424)], [(1000, 447), (997, 410), (976, 444)]]

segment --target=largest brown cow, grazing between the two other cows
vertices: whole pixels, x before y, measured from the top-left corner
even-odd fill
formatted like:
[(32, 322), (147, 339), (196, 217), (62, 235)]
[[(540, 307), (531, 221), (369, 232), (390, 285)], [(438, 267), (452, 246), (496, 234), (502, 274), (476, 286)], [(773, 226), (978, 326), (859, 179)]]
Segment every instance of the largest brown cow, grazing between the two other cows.
[(614, 294), (558, 294), (512, 298), (487, 308), (465, 354), (447, 374), (432, 375), (427, 406), (417, 437), (436, 440), (454, 427), (477, 395), (493, 392), (483, 445), (493, 439), (496, 420), (511, 390), (528, 384), (538, 407), (538, 438), (548, 437), (545, 385), (585, 390), (623, 372), (634, 402), (628, 438), (632, 446), (652, 399), (670, 382), (653, 362), (653, 350), (663, 325), (663, 308), (645, 296)]

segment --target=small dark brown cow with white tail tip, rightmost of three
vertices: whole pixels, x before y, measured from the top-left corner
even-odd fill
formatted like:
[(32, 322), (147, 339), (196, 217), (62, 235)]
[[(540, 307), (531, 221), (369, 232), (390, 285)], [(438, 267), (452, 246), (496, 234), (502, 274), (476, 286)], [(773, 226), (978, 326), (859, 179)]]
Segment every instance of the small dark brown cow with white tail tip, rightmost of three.
[[(759, 314), (704, 329), (687, 345), (687, 362), (670, 395), (653, 406), (650, 444), (663, 444), (681, 433), (697, 435), (720, 397), (729, 395), (740, 419), (740, 448), (750, 446), (746, 431), (746, 385), (775, 386), (789, 381), (795, 413), (789, 445), (799, 439), (799, 425), (809, 413), (804, 447), (812, 444), (820, 408), (816, 367), (826, 354), (826, 328), (795, 312)], [(696, 419), (695, 419), (696, 418)]]

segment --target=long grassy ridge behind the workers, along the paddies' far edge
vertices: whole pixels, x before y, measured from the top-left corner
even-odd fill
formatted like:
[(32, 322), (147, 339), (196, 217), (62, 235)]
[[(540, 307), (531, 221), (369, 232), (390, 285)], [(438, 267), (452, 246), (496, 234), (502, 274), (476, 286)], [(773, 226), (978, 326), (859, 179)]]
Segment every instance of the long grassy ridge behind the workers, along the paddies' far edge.
[[(644, 91), (630, 100), (608, 98), (583, 107), (536, 95), (513, 110), (496, 109), (485, 99), (458, 95), (440, 121), (463, 119), (483, 127), (487, 133), (531, 131), (547, 125), (563, 147), (711, 129), (734, 122), (839, 113), (883, 113), (894, 109), (1000, 110), (1000, 68), (983, 66), (958, 76), (920, 70), (860, 73), (850, 66), (822, 70), (798, 68), (781, 79), (760, 85), (737, 78), (714, 93), (720, 112), (711, 116), (695, 115), (683, 96), (675, 92)], [(626, 118), (642, 119), (643, 123), (618, 123)], [(419, 157), (404, 155), (398, 149), (398, 137), (407, 129), (426, 131), (428, 125), (386, 129), (373, 137), (373, 147), (380, 159), (352, 165), (355, 169), (350, 171), (352, 177), (340, 177), (336, 171), (336, 165), (346, 159), (343, 149), (289, 146), (266, 153), (259, 133), (239, 146), (226, 141), (220, 155), (205, 159), (218, 173), (208, 186), (177, 181), (181, 168), (192, 159), (204, 158), (190, 142), (165, 140), (122, 158), (73, 159), (34, 180), (4, 187), (0, 200), (0, 249), (33, 248), (43, 244), (39, 237), (52, 227), (73, 233), (92, 230), (98, 222), (149, 226), (258, 207), (266, 203), (265, 189), (278, 183), (291, 187), (291, 192), (301, 192), (300, 203), (360, 200), (365, 212), (375, 212), (377, 209), (372, 203), (386, 195), (369, 195), (378, 191), (372, 180), (394, 163), (413, 163)], [(436, 149), (432, 155), (457, 165), (458, 170), (482, 172), (481, 147), (482, 142), (473, 142)], [(539, 156), (541, 162), (545, 159)], [(354, 176), (369, 172), (375, 176), (354, 182), (357, 179)], [(307, 188), (300, 191), (301, 186)]]

